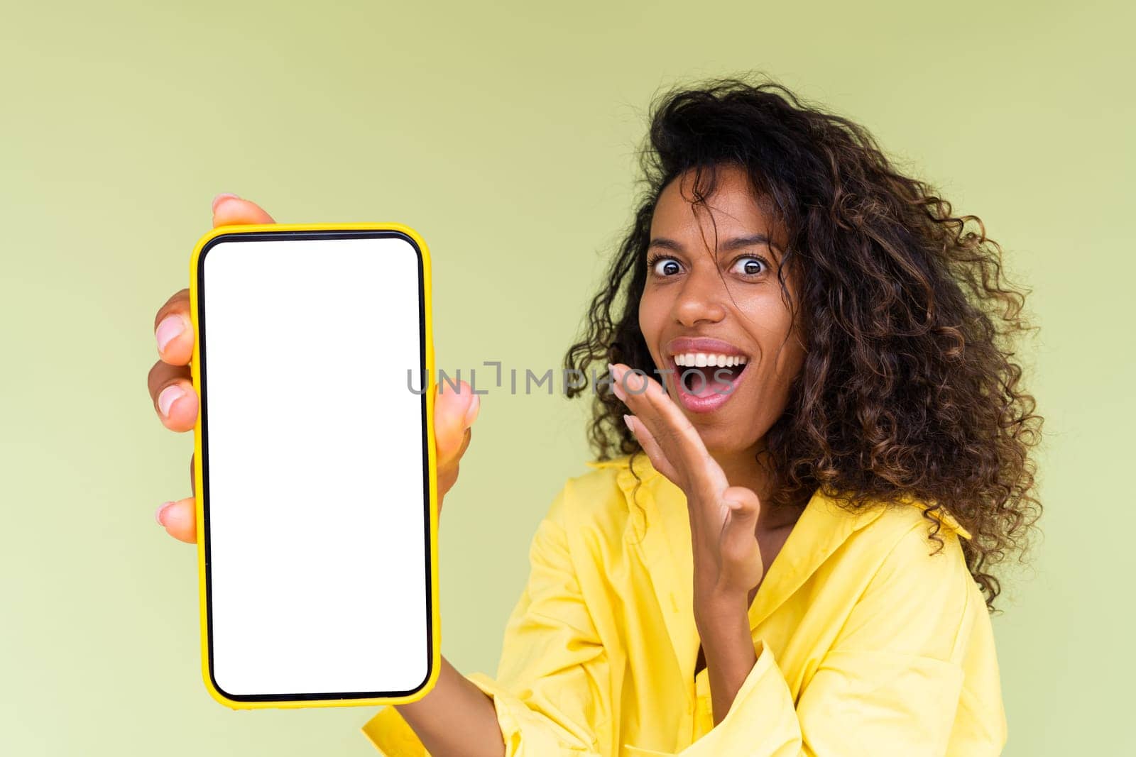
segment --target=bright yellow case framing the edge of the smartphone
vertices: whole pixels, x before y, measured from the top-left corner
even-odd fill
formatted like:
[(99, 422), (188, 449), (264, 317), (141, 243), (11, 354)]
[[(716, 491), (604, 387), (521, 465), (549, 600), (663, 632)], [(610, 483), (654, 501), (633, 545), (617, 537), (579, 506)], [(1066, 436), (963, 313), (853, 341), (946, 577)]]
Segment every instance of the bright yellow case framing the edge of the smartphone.
[(429, 563), (431, 563), (431, 609), (429, 609), (429, 626), (431, 626), (431, 656), (429, 656), (429, 675), (427, 676), (425, 683), (417, 691), (409, 695), (399, 697), (370, 697), (370, 698), (312, 698), (312, 699), (294, 699), (294, 700), (278, 700), (278, 699), (261, 699), (261, 700), (247, 700), (247, 699), (232, 699), (222, 693), (217, 687), (214, 684), (210, 659), (209, 659), (209, 617), (208, 617), (208, 602), (207, 602), (207, 573), (206, 573), (206, 542), (204, 542), (204, 502), (203, 502), (203, 451), (201, 445), (202, 429), (201, 429), (201, 415), (198, 413), (197, 423), (193, 427), (193, 448), (194, 448), (194, 464), (193, 464), (193, 480), (195, 487), (195, 511), (197, 511), (197, 527), (198, 527), (198, 586), (199, 586), (199, 599), (200, 599), (200, 617), (201, 617), (201, 673), (204, 680), (206, 689), (218, 703), (231, 707), (233, 709), (254, 709), (254, 708), (295, 708), (295, 707), (357, 707), (357, 706), (377, 706), (377, 705), (390, 705), (390, 704), (403, 704), (408, 701), (416, 701), (425, 697), (431, 689), (434, 688), (437, 681), (438, 672), (441, 670), (442, 661), (442, 624), (441, 615), (438, 613), (438, 581), (437, 581), (437, 460), (435, 449), (435, 438), (434, 438), (434, 396), (436, 394), (435, 381), (434, 381), (434, 337), (433, 337), (433, 325), (432, 325), (432, 308), (431, 308), (431, 260), (429, 251), (426, 246), (426, 242), (421, 236), (415, 232), (409, 226), (403, 226), (402, 224), (250, 224), (250, 225), (239, 225), (239, 226), (218, 226), (202, 236), (197, 246), (193, 250), (193, 255), (190, 259), (190, 319), (193, 323), (193, 361), (191, 363), (191, 372), (193, 376), (193, 388), (201, 396), (201, 375), (200, 375), (200, 352), (199, 344), (200, 340), (197, 338), (199, 331), (199, 311), (198, 311), (198, 274), (199, 274), (199, 260), (201, 253), (207, 249), (207, 246), (218, 237), (229, 236), (229, 235), (242, 235), (242, 234), (258, 234), (258, 233), (292, 233), (292, 232), (342, 232), (342, 230), (381, 230), (381, 232), (396, 232), (406, 235), (411, 239), (415, 246), (418, 249), (421, 259), (421, 272), (423, 272), (423, 326), (424, 326), (424, 340), (425, 340), (425, 352), (426, 352), (426, 434), (427, 434), (427, 460), (429, 465)]

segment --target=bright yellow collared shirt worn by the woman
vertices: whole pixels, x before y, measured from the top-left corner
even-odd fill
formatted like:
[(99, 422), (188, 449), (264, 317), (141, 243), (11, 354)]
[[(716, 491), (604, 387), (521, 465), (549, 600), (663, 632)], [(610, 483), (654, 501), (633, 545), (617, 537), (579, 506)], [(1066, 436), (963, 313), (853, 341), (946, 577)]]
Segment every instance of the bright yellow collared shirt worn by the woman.
[[(914, 503), (841, 510), (816, 493), (750, 607), (757, 663), (713, 724), (694, 667), (686, 497), (642, 453), (588, 463), (553, 499), (509, 617), (494, 698), (507, 757), (984, 757), (1006, 740), (989, 616), (960, 538)], [(393, 706), (362, 726), (428, 755)]]

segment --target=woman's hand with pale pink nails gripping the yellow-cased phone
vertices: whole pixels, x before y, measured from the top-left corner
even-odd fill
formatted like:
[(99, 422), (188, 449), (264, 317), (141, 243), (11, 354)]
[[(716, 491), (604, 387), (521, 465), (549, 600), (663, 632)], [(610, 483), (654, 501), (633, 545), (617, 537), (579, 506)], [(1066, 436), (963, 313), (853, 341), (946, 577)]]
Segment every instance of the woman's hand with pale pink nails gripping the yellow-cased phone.
[[(218, 194), (212, 202), (212, 225), (275, 224), (273, 217), (259, 205), (234, 194)], [(190, 361), (193, 358), (193, 325), (190, 321), (190, 291), (175, 293), (158, 309), (153, 319), (158, 344), (158, 361), (150, 369), (147, 387), (154, 412), (162, 426), (172, 431), (191, 431), (198, 419), (199, 398), (193, 389)], [(266, 367), (268, 368), (268, 367)], [(272, 371), (266, 370), (266, 373)], [(279, 380), (273, 378), (273, 380)], [(458, 480), (458, 465), (473, 436), (470, 424), (477, 417), (479, 403), (468, 384), (461, 381), (459, 390), (448, 387), (434, 402), (434, 435), (437, 453), (438, 507), (442, 497)], [(287, 412), (279, 407), (278, 412)], [(197, 516), (193, 476), (193, 455), (190, 455), (190, 488), (193, 496), (162, 504), (156, 518), (166, 531), (181, 541), (197, 542)]]

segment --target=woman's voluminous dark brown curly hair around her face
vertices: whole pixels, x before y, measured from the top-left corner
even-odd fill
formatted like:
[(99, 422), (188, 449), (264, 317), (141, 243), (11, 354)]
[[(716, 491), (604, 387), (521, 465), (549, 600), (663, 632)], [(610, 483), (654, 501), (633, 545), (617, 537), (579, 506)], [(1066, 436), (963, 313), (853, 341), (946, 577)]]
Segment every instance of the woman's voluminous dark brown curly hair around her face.
[[(794, 317), (808, 342), (758, 453), (770, 471), (763, 504), (801, 507), (817, 488), (851, 510), (914, 498), (927, 504), (939, 549), (934, 514), (943, 508), (971, 533), (962, 550), (993, 612), (1001, 587), (989, 567), (1025, 550), (1041, 515), (1028, 452), (1043, 419), (1012, 360), (1017, 333), (1033, 328), (1025, 295), (1006, 285), (1002, 250), (982, 220), (955, 215), (933, 186), (896, 170), (864, 127), (750, 78), (652, 100), (634, 220), (565, 368), (655, 371), (638, 323), (655, 203), (693, 170), (704, 205), (716, 168), (742, 168), (786, 230), (778, 279), (786, 298), (785, 271), (800, 283)], [(591, 394), (595, 457), (642, 453), (624, 403)]]

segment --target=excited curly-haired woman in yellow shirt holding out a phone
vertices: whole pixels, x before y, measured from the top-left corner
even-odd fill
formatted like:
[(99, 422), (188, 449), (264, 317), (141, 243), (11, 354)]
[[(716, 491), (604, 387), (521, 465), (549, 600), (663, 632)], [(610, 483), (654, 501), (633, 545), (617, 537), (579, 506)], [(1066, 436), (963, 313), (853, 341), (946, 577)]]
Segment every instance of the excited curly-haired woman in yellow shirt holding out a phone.
[[(365, 733), (392, 757), (999, 754), (988, 569), (1039, 511), (1041, 426), (1000, 249), (777, 84), (668, 93), (643, 170), (566, 356), (610, 369), (596, 460), (534, 536), (498, 675), (443, 658)], [(215, 200), (215, 225), (256, 222)], [(159, 310), (149, 380), (179, 431), (186, 309)], [(477, 410), (437, 396), (440, 493)], [(195, 540), (192, 497), (158, 520)]]

